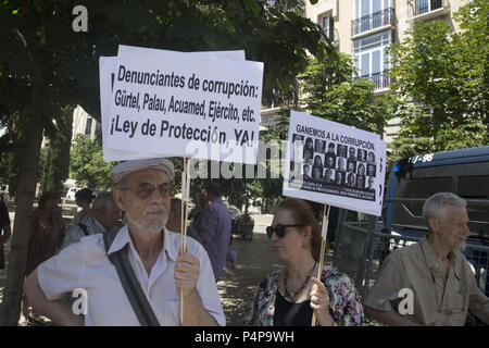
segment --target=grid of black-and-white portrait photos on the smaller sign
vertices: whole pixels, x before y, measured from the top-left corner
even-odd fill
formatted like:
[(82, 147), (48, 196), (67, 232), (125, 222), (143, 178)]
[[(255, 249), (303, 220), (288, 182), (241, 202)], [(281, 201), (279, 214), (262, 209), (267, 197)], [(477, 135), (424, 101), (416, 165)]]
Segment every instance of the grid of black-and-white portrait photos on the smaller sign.
[(375, 152), (292, 134), (290, 184), (296, 188), (375, 200)]

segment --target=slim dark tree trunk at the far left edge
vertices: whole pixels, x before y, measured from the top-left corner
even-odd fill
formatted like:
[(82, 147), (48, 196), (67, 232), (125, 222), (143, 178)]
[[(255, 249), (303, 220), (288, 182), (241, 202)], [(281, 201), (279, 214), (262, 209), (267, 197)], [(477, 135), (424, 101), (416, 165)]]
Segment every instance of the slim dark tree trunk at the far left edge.
[(42, 86), (33, 80), (30, 101), (30, 122), (26, 133), (24, 156), (21, 160), (21, 173), (16, 195), (14, 231), (12, 234), (7, 284), (3, 290), (0, 325), (17, 325), (21, 315), (21, 301), (24, 286), (24, 272), (27, 262), (27, 248), (30, 237), (30, 217), (36, 195), (39, 167), (40, 145), (42, 141)]

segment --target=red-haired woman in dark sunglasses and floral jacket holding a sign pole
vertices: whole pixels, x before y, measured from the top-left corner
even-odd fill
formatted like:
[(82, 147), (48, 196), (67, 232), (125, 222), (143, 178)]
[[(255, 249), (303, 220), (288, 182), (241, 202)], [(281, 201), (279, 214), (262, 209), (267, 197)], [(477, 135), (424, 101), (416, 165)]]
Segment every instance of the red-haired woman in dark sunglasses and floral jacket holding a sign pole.
[(296, 198), (277, 208), (266, 228), (285, 269), (265, 276), (253, 293), (244, 325), (308, 326), (313, 312), (316, 325), (361, 325), (362, 303), (353, 281), (325, 266), (317, 276), (321, 228), (311, 207)]

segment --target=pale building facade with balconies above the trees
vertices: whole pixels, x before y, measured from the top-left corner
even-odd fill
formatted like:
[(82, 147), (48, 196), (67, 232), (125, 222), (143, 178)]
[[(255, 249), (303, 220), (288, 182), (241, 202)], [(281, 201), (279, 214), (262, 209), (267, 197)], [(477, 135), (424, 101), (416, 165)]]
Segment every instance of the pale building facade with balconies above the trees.
[[(388, 48), (406, 37), (415, 21), (441, 20), (451, 24), (453, 13), (469, 0), (319, 0), (305, 1), (305, 16), (323, 27), (338, 52), (354, 58), (358, 78), (371, 79), (376, 94), (389, 91), (391, 58)], [(400, 129), (391, 120), (385, 140)]]

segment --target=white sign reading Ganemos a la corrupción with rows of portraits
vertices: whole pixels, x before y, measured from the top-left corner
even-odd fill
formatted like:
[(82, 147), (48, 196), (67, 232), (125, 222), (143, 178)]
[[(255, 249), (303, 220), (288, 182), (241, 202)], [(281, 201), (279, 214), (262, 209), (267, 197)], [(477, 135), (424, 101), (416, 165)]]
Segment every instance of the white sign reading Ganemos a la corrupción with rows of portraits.
[(284, 196), (380, 216), (385, 163), (377, 134), (290, 112)]

